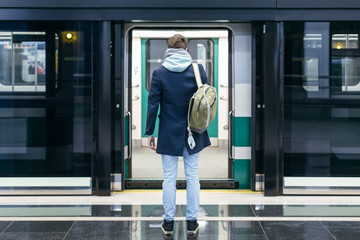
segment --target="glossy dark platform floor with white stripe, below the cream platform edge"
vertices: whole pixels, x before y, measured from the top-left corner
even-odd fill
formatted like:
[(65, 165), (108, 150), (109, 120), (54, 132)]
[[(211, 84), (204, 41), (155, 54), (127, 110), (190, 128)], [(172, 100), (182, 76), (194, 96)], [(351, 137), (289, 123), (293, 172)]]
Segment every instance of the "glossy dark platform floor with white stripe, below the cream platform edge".
[[(187, 239), (178, 205), (173, 239)], [(1, 205), (2, 239), (163, 239), (161, 205)], [(197, 239), (360, 239), (360, 205), (201, 205)]]

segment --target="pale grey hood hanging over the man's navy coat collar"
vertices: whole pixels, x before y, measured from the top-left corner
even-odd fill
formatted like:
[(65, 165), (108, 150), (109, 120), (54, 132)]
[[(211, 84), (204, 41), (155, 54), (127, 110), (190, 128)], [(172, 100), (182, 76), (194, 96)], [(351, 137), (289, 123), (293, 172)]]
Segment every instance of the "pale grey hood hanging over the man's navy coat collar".
[(171, 72), (183, 72), (191, 63), (192, 58), (185, 49), (168, 48), (162, 65)]

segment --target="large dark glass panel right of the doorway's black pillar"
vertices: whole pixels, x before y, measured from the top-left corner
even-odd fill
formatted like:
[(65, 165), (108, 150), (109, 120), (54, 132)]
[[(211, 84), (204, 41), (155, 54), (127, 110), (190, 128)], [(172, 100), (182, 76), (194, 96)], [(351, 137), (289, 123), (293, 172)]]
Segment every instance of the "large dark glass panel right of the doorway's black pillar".
[(360, 22), (284, 23), (285, 177), (359, 176), (358, 34)]

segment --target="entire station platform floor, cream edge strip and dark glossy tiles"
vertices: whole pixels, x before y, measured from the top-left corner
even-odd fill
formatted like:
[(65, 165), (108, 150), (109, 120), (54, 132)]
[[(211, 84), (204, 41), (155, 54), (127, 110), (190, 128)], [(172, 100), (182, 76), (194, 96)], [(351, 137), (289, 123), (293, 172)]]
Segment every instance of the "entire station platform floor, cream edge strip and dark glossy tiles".
[[(0, 239), (163, 239), (161, 190), (111, 197), (0, 197)], [(359, 239), (360, 197), (201, 190), (196, 239)], [(173, 239), (186, 236), (186, 191), (177, 192)]]

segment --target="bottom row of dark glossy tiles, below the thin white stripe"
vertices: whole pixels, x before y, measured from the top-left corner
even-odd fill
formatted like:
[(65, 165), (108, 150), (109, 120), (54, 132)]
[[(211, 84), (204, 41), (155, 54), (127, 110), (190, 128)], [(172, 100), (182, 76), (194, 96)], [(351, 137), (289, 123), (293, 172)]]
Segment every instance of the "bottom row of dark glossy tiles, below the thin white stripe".
[[(158, 221), (0, 222), (0, 239), (163, 239)], [(359, 239), (359, 222), (200, 221), (196, 239)], [(176, 221), (174, 239), (186, 239)]]

